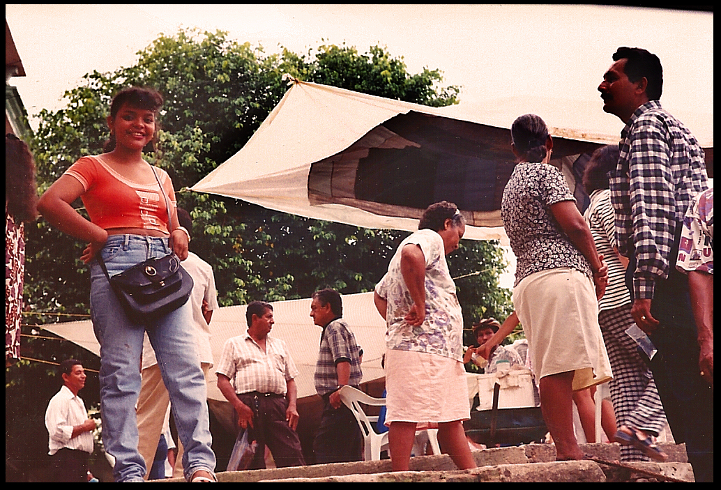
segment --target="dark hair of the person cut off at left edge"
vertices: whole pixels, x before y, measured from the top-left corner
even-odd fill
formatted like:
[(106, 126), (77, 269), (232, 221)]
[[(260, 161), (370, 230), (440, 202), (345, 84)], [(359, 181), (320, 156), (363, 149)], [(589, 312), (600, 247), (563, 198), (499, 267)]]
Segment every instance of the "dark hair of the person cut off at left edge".
[(12, 133), (5, 135), (5, 202), (17, 222), (37, 218), (35, 161), (27, 143)]

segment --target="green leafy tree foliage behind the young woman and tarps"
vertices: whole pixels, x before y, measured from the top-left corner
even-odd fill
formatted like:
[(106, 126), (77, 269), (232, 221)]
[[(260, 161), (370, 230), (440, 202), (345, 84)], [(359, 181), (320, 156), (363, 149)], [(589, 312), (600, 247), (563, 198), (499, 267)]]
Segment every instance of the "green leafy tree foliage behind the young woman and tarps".
[[(324, 287), (341, 293), (372, 290), (407, 232), (301, 218), (182, 190), (244, 146), (288, 89), (284, 73), (435, 107), (458, 102), (456, 86), (441, 86), (441, 71), (425, 68), (408, 74), (402, 58), (380, 46), (363, 54), (345, 45), (322, 45), (307, 55), (288, 50), (265, 55), (262, 48), (230, 40), (225, 32), (181, 30), (160, 35), (131, 67), (84, 76), (80, 86), (66, 92), (64, 109), (40, 112), (31, 141), (40, 192), (79, 157), (102, 153), (115, 92), (131, 84), (153, 86), (166, 102), (159, 117), (161, 151), (146, 159), (167, 170), (180, 207), (193, 217), (190, 249), (213, 266), (221, 306), (307, 298)], [(80, 200), (74, 206), (84, 213)], [(25, 303), (31, 313), (45, 313), (30, 323), (89, 313), (89, 270), (79, 259), (86, 244), (43, 219), (30, 223), (26, 233)], [(510, 298), (498, 288), (505, 264), (497, 243), (462, 241), (449, 261), (451, 274), (463, 276), (456, 283), (466, 326), (481, 316), (505, 317)], [(32, 348), (32, 342), (27, 345)], [(66, 347), (54, 353), (47, 346), (37, 350), (54, 362), (78, 355)], [(25, 384), (27, 369), (23, 363), (6, 370), (6, 400)], [(35, 378), (47, 377), (47, 367), (37, 370)], [(43, 392), (37, 404), (47, 404), (50, 396)], [(97, 403), (97, 393), (85, 390), (84, 396), (89, 405)], [(6, 429), (13, 424), (6, 419)], [(6, 435), (6, 453), (7, 442), (16, 436)]]

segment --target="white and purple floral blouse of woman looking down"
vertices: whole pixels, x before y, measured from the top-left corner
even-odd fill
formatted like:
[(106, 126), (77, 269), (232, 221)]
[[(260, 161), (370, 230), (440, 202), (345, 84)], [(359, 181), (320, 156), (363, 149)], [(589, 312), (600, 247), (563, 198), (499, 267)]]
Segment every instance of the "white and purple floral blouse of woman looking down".
[[(425, 320), (410, 326), (404, 316), (413, 300), (401, 274), (401, 250), (417, 244), (425, 257)], [(443, 239), (433, 230), (420, 230), (401, 242), (388, 272), (376, 285), (376, 293), (388, 302), (386, 344), (388, 349), (428, 352), (463, 359), (463, 316), (456, 298), (443, 249)]]

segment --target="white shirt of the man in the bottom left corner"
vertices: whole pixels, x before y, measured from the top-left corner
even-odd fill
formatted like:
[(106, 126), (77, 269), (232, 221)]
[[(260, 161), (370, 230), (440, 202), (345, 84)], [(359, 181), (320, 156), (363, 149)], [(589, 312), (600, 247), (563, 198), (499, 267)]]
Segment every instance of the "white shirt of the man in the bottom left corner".
[(52, 456), (63, 447), (92, 454), (94, 445), (92, 431), (72, 437), (73, 427), (84, 424), (87, 419), (88, 412), (83, 399), (63, 385), (56, 396), (50, 398), (48, 409), (45, 411), (45, 428), (50, 435), (48, 454)]

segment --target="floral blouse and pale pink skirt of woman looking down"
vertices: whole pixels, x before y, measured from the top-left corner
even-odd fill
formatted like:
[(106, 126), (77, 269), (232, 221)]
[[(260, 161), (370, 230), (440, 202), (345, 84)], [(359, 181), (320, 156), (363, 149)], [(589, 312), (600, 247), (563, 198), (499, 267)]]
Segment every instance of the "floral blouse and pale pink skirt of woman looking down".
[[(407, 244), (420, 246), (425, 257), (425, 319), (419, 326), (404, 320), (413, 305), (401, 274)], [(402, 241), (376, 293), (388, 303), (386, 425), (416, 422), (421, 429), (469, 419), (463, 316), (441, 236), (420, 230)]]

